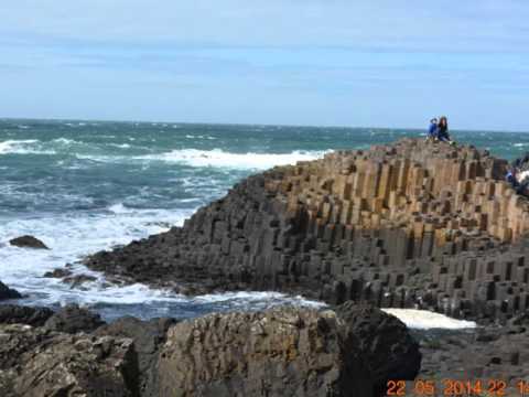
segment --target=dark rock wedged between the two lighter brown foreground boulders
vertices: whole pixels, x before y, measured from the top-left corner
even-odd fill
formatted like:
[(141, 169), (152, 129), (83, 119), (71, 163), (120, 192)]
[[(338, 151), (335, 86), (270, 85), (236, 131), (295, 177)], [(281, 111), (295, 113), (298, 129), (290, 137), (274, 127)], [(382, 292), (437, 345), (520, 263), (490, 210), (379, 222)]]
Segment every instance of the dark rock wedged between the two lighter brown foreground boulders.
[(160, 346), (165, 343), (169, 328), (175, 323), (174, 319), (141, 321), (132, 316), (126, 316), (100, 326), (95, 334), (133, 340), (138, 353), (141, 396), (158, 397), (161, 395), (158, 385), (158, 354)]

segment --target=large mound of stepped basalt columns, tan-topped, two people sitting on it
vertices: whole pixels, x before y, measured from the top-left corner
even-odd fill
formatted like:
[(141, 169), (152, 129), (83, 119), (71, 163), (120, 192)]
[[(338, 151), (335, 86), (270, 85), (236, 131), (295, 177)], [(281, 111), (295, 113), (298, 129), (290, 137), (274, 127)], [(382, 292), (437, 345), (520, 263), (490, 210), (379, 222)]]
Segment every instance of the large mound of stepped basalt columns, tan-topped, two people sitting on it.
[(499, 319), (529, 308), (529, 202), (508, 164), (404, 139), (250, 176), (185, 225), (87, 259), (125, 280), (281, 290)]

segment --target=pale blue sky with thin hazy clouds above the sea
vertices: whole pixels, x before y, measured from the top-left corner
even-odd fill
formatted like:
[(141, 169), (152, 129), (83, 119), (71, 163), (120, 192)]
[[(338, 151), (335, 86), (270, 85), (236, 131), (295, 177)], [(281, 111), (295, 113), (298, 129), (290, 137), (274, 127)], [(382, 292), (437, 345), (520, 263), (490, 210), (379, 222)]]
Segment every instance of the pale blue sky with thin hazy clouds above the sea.
[(529, 131), (527, 0), (2, 0), (0, 117)]

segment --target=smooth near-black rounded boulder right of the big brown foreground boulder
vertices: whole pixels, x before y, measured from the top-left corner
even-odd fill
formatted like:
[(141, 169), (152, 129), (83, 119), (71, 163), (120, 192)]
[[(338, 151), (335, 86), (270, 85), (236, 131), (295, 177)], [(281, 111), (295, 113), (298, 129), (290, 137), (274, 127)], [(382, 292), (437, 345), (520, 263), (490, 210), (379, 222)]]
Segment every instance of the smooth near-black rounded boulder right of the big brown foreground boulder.
[(336, 313), (366, 361), (378, 391), (390, 379), (412, 380), (421, 369), (419, 344), (406, 324), (371, 304), (346, 302)]

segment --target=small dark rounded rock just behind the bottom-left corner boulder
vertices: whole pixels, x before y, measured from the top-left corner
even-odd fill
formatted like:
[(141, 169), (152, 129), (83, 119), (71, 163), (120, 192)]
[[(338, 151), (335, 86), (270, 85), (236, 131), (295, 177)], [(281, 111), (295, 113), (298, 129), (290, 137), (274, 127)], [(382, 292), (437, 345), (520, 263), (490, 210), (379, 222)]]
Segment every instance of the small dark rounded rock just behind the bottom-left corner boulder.
[(75, 334), (77, 332), (89, 333), (104, 325), (99, 314), (77, 304), (64, 307), (53, 314), (44, 324), (44, 328), (52, 331)]

